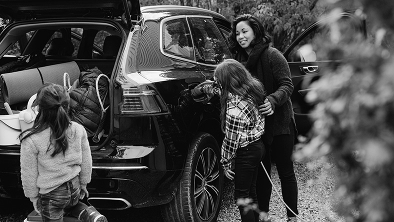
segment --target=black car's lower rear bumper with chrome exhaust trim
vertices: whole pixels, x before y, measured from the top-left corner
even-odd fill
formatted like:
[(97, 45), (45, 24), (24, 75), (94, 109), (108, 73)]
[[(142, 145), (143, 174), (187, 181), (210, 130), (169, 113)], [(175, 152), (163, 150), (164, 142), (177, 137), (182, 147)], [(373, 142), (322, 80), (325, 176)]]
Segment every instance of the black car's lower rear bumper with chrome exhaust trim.
[(97, 209), (125, 209), (168, 203), (174, 196), (182, 170), (156, 171), (94, 168), (87, 185), (87, 201)]

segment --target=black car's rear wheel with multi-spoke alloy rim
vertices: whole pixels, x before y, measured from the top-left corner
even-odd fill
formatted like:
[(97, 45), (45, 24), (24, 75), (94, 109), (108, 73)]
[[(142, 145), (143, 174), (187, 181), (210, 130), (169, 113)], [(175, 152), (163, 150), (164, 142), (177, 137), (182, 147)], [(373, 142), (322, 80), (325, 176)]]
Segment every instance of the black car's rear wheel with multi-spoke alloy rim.
[(190, 143), (179, 188), (161, 207), (167, 222), (212, 222), (220, 209), (223, 170), (215, 138), (198, 133)]

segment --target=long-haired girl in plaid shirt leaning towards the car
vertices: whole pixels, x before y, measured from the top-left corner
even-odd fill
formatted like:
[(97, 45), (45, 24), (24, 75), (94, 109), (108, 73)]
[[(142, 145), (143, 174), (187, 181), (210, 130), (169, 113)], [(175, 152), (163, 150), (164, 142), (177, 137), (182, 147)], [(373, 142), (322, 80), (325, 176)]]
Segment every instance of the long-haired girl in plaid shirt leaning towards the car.
[[(214, 79), (220, 86), (220, 118), (225, 133), (220, 162), (224, 175), (235, 179), (234, 197), (242, 222), (258, 222), (258, 210), (248, 210), (243, 203), (246, 201), (246, 205), (257, 208), (257, 169), (265, 153), (261, 141), (264, 116), (258, 112), (258, 105), (264, 102), (264, 88), (234, 59), (221, 62), (214, 71)], [(232, 171), (233, 158), (235, 165)]]

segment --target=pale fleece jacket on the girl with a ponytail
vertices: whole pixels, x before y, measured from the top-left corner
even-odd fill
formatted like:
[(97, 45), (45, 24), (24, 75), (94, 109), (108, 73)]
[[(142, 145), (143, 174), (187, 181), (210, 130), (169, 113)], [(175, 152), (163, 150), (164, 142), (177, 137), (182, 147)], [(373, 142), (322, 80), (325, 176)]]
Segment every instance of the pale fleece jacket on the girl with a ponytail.
[(51, 156), (50, 128), (26, 137), (20, 143), (20, 172), (24, 195), (31, 201), (40, 189), (50, 189), (79, 176), (84, 187), (91, 179), (91, 154), (84, 127), (71, 122), (66, 129), (68, 147)]

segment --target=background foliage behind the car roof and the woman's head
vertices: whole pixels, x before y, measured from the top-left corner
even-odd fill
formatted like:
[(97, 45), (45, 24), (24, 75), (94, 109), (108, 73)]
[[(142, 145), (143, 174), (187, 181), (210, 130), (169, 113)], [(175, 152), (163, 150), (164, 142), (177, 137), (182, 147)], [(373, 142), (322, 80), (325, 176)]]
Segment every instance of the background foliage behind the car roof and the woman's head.
[(317, 20), (324, 6), (317, 0), (147, 0), (141, 6), (157, 4), (188, 5), (206, 8), (224, 15), (228, 20), (249, 13), (254, 14), (272, 35), (272, 46), (280, 51), (309, 24)]

